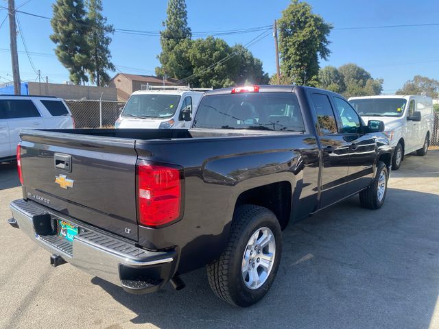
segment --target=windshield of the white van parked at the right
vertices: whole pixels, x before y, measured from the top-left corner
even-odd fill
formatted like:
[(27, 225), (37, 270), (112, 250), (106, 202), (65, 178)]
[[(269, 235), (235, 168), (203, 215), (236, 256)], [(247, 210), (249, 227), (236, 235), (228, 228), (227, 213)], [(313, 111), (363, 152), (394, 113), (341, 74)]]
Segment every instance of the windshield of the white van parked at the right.
[(407, 101), (403, 98), (369, 98), (349, 101), (361, 116), (401, 117)]

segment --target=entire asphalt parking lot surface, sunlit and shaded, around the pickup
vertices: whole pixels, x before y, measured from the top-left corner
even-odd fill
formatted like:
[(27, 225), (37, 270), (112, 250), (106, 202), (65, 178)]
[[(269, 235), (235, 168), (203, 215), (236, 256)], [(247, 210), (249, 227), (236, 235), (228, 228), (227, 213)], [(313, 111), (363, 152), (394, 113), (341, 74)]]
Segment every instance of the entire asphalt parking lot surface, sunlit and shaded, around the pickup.
[(11, 228), (21, 197), (15, 164), (0, 164), (1, 328), (439, 328), (439, 150), (407, 156), (385, 205), (358, 197), (290, 225), (274, 285), (250, 308), (217, 299), (204, 269), (187, 287), (129, 295)]

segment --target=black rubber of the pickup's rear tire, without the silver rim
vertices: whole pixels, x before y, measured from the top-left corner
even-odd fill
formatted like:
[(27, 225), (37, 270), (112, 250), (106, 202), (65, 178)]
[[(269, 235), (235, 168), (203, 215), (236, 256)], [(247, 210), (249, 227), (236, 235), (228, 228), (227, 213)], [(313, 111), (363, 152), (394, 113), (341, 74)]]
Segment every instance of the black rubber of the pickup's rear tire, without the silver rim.
[[(261, 287), (249, 289), (244, 282), (241, 267), (250, 238), (261, 228), (269, 228), (274, 236), (276, 247), (274, 260), (271, 271), (268, 272), (269, 274)], [(244, 205), (239, 207), (233, 215), (230, 236), (224, 252), (219, 259), (207, 266), (211, 289), (217, 297), (234, 306), (247, 307), (259, 302), (274, 281), (281, 253), (281, 226), (274, 213), (261, 206)], [(248, 265), (250, 266), (250, 263)]]

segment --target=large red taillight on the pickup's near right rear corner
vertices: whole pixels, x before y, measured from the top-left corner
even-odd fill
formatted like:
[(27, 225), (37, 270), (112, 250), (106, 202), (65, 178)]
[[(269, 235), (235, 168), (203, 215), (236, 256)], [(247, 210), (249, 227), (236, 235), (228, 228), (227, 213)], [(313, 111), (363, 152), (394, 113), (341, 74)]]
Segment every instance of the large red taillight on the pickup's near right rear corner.
[(137, 186), (141, 225), (163, 226), (180, 217), (180, 170), (139, 160)]

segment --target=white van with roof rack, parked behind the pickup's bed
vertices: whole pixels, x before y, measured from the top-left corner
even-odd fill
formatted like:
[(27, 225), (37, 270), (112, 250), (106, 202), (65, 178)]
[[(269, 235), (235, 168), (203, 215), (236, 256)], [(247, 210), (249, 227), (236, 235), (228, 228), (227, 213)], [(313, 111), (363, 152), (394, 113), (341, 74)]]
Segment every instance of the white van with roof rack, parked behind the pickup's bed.
[[(160, 90), (154, 90), (154, 89)], [(198, 103), (210, 88), (153, 87), (132, 93), (115, 123), (116, 128), (174, 128), (192, 126)]]

